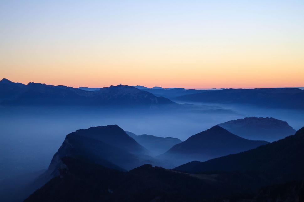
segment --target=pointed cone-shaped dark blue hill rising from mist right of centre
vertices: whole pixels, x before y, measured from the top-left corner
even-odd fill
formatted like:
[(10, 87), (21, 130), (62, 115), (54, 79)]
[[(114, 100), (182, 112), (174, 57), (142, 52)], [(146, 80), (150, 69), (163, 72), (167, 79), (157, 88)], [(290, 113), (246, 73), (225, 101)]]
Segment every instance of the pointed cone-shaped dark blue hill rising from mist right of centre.
[(220, 126), (213, 126), (174, 145), (157, 158), (176, 159), (177, 162), (182, 163), (193, 160), (204, 161), (228, 154), (236, 154), (264, 144), (268, 144), (268, 142), (244, 139)]

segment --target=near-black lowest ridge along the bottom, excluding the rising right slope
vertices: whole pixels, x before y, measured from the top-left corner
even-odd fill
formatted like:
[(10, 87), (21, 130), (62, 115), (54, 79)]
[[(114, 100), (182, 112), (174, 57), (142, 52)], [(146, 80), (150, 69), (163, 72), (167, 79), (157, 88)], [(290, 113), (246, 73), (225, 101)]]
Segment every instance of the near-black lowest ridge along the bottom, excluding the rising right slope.
[[(252, 192), (248, 175), (194, 175), (143, 165), (128, 172), (109, 169), (84, 159), (63, 157), (60, 175), (35, 191), (25, 202), (52, 201), (302, 201), (300, 181)], [(241, 184), (240, 184), (241, 183)], [(232, 199), (232, 200), (228, 200)], [(279, 199), (279, 200), (275, 200)], [(300, 200), (298, 200), (300, 199)]]

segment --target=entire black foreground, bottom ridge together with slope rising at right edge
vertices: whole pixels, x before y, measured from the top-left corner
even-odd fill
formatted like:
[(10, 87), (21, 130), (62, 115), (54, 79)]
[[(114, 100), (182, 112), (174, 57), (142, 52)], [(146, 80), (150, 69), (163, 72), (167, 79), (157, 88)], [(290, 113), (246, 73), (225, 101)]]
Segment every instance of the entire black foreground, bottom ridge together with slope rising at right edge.
[(25, 201), (302, 202), (303, 148), (304, 127), (256, 149), (174, 170), (147, 164), (122, 172), (89, 158), (62, 157), (59, 175)]

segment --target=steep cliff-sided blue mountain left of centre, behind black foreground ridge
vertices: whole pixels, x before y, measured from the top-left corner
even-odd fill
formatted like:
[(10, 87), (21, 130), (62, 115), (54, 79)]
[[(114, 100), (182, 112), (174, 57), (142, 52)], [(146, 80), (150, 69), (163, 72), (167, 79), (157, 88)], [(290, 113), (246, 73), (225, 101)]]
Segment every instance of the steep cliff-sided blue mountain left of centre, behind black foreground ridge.
[(88, 159), (105, 167), (129, 170), (144, 163), (151, 163), (149, 151), (129, 137), (117, 125), (80, 129), (66, 136), (58, 149), (47, 173), (58, 175), (65, 156)]

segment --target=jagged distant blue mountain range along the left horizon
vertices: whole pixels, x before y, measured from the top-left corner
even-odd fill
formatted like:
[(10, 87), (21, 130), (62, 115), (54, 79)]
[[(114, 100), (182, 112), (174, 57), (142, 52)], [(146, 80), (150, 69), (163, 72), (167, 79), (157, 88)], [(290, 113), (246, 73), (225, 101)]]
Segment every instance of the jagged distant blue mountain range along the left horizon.
[[(1, 83), (8, 83), (7, 81)], [(41, 83), (1, 85), (6, 92), (3, 105), (82, 105), (82, 106), (161, 106), (174, 102), (164, 97), (141, 91), (132, 86), (110, 86), (98, 91), (85, 91), (67, 86), (53, 86)], [(1, 88), (3, 87), (3, 88)]]

